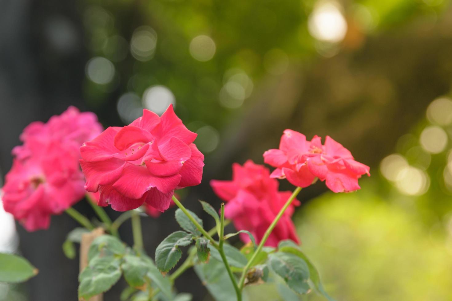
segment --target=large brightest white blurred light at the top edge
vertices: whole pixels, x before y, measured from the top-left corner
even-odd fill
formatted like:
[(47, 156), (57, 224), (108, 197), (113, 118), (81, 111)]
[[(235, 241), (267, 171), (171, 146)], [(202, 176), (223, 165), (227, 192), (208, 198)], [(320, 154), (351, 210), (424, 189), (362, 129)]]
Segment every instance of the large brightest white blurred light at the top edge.
[(347, 22), (335, 1), (320, 1), (309, 16), (308, 29), (321, 41), (340, 42), (347, 32)]

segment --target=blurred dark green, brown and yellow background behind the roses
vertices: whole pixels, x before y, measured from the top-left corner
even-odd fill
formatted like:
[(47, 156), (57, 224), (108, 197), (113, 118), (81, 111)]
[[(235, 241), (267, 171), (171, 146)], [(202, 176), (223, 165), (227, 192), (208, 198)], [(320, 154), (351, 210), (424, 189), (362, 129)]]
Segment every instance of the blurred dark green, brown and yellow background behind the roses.
[[(196, 199), (219, 203), (209, 181), (229, 179), (232, 162), (263, 163), (284, 129), (330, 135), (372, 177), (355, 194), (321, 183), (301, 193), (298, 234), (327, 291), (339, 300), (452, 300), (448, 0), (0, 0), (0, 8), (0, 184), (24, 127), (70, 105), (107, 127), (174, 104), (206, 155), (202, 184), (180, 192), (200, 216)], [(84, 201), (75, 208), (94, 218)], [(173, 213), (142, 219), (152, 257), (177, 228)], [(18, 247), (40, 273), (23, 286), (0, 283), (0, 300), (75, 300), (78, 259), (61, 251), (75, 222), (53, 217), (33, 233), (18, 225), (17, 239), (2, 214), (0, 250)], [(128, 223), (120, 233), (132, 243)], [(176, 285), (210, 300), (192, 271)], [(123, 287), (105, 300), (119, 300)], [(278, 300), (273, 291), (248, 295)]]

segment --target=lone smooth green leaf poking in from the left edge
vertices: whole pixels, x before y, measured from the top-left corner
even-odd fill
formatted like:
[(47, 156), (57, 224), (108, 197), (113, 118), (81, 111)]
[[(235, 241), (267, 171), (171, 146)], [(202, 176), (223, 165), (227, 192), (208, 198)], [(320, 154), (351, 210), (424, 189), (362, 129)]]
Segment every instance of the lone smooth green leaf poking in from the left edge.
[(38, 274), (38, 269), (33, 267), (23, 257), (0, 253), (0, 282), (24, 282)]

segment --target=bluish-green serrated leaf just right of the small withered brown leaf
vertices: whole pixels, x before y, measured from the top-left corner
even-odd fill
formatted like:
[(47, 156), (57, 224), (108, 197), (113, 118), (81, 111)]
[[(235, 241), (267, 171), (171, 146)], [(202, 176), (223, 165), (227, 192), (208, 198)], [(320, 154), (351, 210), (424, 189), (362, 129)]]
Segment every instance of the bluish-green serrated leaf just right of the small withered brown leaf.
[(305, 294), (310, 287), (309, 268), (306, 262), (297, 255), (277, 252), (268, 255), (270, 266), (275, 273), (281, 276), (293, 291)]

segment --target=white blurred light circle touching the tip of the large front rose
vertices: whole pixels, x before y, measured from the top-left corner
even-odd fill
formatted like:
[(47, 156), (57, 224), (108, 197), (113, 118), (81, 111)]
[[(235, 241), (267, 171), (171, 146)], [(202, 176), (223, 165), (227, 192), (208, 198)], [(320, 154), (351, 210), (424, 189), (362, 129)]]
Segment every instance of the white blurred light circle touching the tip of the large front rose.
[(143, 105), (146, 109), (151, 110), (159, 115), (173, 104), (176, 104), (176, 98), (170, 89), (165, 86), (153, 86), (147, 88), (143, 93)]

